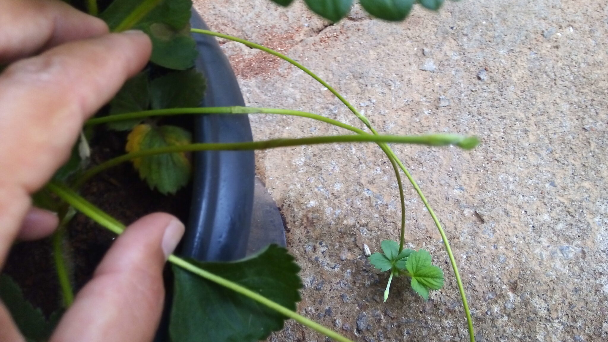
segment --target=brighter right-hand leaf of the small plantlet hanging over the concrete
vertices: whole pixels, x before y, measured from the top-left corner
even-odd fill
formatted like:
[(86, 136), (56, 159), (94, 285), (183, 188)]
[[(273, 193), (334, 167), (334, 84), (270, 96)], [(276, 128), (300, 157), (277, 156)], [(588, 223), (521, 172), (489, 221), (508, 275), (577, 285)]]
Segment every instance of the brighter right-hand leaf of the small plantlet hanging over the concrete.
[(443, 270), (432, 265), (432, 258), (428, 251), (412, 251), (407, 258), (407, 271), (412, 278), (412, 289), (429, 299), (429, 290), (439, 290), (443, 287)]

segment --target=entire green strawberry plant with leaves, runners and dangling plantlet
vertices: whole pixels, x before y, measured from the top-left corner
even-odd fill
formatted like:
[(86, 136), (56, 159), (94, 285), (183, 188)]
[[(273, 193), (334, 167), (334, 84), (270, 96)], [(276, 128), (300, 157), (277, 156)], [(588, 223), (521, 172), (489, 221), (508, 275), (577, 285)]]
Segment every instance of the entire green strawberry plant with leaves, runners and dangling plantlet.
[[(273, 0), (281, 5), (291, 0)], [(475, 137), (457, 134), (428, 134), (424, 136), (385, 136), (370, 121), (328, 83), (320, 79), (297, 61), (276, 51), (237, 37), (209, 30), (190, 29), (190, 0), (114, 0), (103, 5), (95, 0), (80, 4), (92, 15), (105, 19), (116, 32), (140, 29), (153, 41), (151, 64), (140, 74), (125, 83), (109, 106), (85, 124), (83, 137), (90, 136), (96, 125), (105, 124), (110, 130), (129, 131), (125, 142), (125, 155), (116, 156), (90, 166), (86, 160), (86, 138), (74, 147), (71, 159), (58, 170), (54, 179), (35, 195), (38, 206), (60, 213), (61, 225), (53, 239), (57, 275), (60, 279), (64, 309), (71, 305), (73, 290), (66, 256), (63, 250), (67, 222), (78, 211), (110, 231), (121, 234), (125, 226), (116, 218), (89, 203), (78, 194), (78, 189), (93, 176), (123, 162), (132, 162), (151, 189), (162, 194), (174, 194), (188, 183), (191, 164), (188, 153), (203, 150), (252, 150), (303, 144), (334, 142), (375, 142), (385, 152), (393, 169), (401, 199), (401, 229), (399, 242), (384, 240), (383, 253), (374, 253), (369, 261), (380, 271), (390, 272), (384, 301), (389, 297), (393, 277), (406, 276), (416, 293), (429, 298), (430, 290), (443, 287), (441, 268), (432, 265), (426, 250), (404, 249), (405, 201), (401, 182), (404, 172), (440, 231), (460, 290), (468, 319), (469, 336), (474, 341), (471, 314), (463, 285), (458, 274), (454, 255), (446, 234), (428, 201), (413, 180), (404, 164), (393, 153), (389, 143), (425, 144), (433, 146), (455, 145), (470, 149), (478, 144)], [(331, 21), (338, 21), (350, 10), (353, 0), (305, 0), (314, 12)], [(443, 0), (361, 0), (371, 15), (398, 21), (407, 16), (415, 2), (427, 9), (438, 9)], [(249, 108), (242, 106), (198, 108), (204, 94), (205, 81), (192, 69), (196, 58), (195, 43), (190, 32), (212, 35), (237, 41), (261, 49), (288, 61), (320, 82), (340, 99), (368, 128), (371, 133), (337, 120), (303, 111)], [(356, 134), (316, 136), (300, 139), (271, 139), (254, 142), (193, 144), (190, 132), (176, 125), (166, 124), (167, 117), (183, 114), (280, 114), (307, 117), (326, 124), (336, 125)], [(80, 148), (79, 148), (80, 147)], [(60, 200), (60, 201), (58, 201)], [(173, 264), (174, 302), (169, 326), (171, 341), (257, 341), (267, 338), (272, 331), (280, 330), (285, 319), (291, 318), (337, 341), (350, 341), (295, 312), (300, 301), (302, 281), (299, 266), (285, 248), (271, 245), (260, 253), (229, 263), (199, 262), (171, 255)], [(255, 276), (255, 277), (254, 277)], [(46, 321), (40, 310), (24, 300), (21, 291), (6, 276), (0, 276), (0, 295), (15, 316), (16, 323), (29, 341), (43, 341), (49, 336), (58, 315)], [(60, 310), (61, 311), (61, 310)], [(218, 314), (223, 313), (223, 314)], [(229, 324), (226, 317), (230, 317)], [(252, 319), (253, 318), (253, 319)], [(35, 329), (32, 329), (35, 327)]]

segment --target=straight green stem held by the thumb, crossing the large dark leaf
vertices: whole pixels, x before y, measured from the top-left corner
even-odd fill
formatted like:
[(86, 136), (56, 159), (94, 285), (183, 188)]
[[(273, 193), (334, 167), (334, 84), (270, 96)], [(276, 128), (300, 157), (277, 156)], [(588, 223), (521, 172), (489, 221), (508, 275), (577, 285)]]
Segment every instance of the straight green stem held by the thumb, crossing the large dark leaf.
[[(74, 190), (70, 189), (69, 187), (64, 186), (63, 184), (50, 182), (49, 184), (47, 184), (47, 188), (50, 191), (54, 192), (62, 200), (66, 201), (66, 203), (70, 204), (72, 207), (82, 212), (95, 222), (99, 223), (109, 231), (112, 231), (116, 234), (122, 234), (122, 232), (125, 230), (125, 225), (123, 225), (110, 215), (106, 214), (101, 209), (95, 207), (93, 204), (89, 203), (84, 198), (80, 197), (78, 194), (76, 194), (76, 192), (74, 192)], [(333, 332), (332, 330), (318, 323), (315, 323), (311, 319), (298, 315), (297, 313), (287, 309), (283, 305), (277, 304), (276, 302), (271, 301), (270, 299), (261, 296), (260, 294), (255, 293), (254, 291), (249, 290), (248, 288), (243, 287), (235, 282), (229, 281), (227, 279), (224, 279), (223, 277), (216, 276), (215, 274), (210, 273), (209, 271), (203, 270), (202, 268), (193, 265), (187, 260), (171, 255), (168, 258), (168, 262), (171, 262), (174, 265), (184, 268), (184, 270), (188, 270), (204, 279), (207, 279), (208, 281), (215, 282), (215, 284), (229, 288), (230, 290), (233, 290), (239, 293), (240, 295), (253, 299), (254, 301), (259, 302), (260, 304), (266, 305), (266, 307), (269, 307), (270, 309), (275, 310), (281, 313), (282, 315), (288, 316), (289, 318), (294, 319), (300, 324), (303, 324), (306, 327), (309, 327), (319, 333), (322, 333), (327, 337), (333, 338), (336, 341), (352, 342), (351, 340), (348, 340), (348, 338), (345, 338), (339, 333)]]

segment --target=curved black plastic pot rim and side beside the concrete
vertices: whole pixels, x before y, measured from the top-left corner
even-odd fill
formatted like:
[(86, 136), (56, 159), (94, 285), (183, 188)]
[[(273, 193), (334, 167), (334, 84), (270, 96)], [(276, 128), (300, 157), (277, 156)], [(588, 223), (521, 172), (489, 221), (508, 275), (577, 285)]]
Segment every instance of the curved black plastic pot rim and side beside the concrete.
[[(193, 10), (192, 27), (207, 29)], [(196, 69), (206, 77), (201, 106), (244, 106), (237, 79), (215, 37), (195, 35)], [(252, 141), (249, 118), (210, 114), (196, 117), (197, 142)], [(254, 198), (252, 151), (195, 154), (190, 221), (180, 254), (198, 260), (235, 260), (245, 256)]]

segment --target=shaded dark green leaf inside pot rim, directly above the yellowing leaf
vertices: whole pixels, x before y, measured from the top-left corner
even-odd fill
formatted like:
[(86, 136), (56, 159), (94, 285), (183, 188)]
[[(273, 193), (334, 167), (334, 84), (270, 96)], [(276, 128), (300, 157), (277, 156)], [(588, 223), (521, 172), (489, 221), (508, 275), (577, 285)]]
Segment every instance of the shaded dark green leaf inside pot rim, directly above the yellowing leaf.
[(176, 71), (150, 83), (152, 109), (198, 107), (205, 92), (205, 79), (195, 69)]

